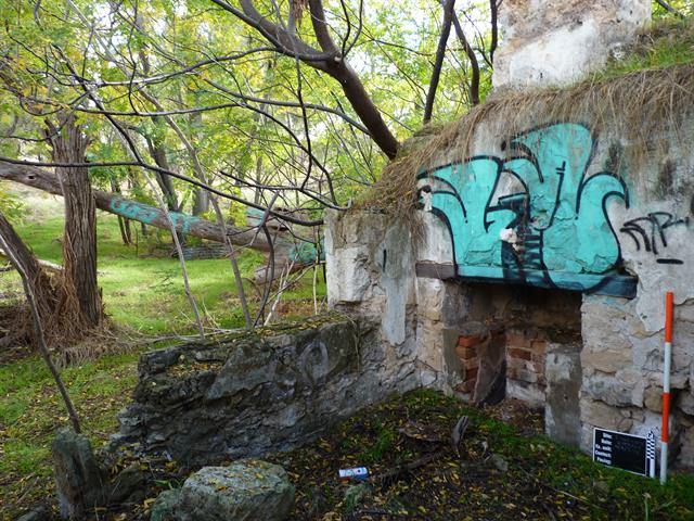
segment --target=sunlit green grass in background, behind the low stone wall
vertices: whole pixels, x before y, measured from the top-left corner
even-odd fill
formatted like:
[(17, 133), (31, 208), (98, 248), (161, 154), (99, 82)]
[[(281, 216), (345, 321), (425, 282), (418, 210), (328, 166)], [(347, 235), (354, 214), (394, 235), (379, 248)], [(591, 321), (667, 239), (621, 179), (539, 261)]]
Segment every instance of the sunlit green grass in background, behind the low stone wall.
[[(40, 221), (28, 218), (17, 225), (16, 230), (39, 258), (61, 263), (63, 224), (62, 216), (41, 218)], [(111, 319), (117, 326), (147, 335), (193, 332), (193, 313), (184, 294), (180, 264), (178, 258), (170, 256), (170, 239), (166, 232), (150, 229), (144, 238), (138, 231), (137, 244), (126, 246), (120, 241), (115, 216), (99, 214), (97, 229), (99, 285)], [(253, 281), (254, 271), (262, 263), (262, 255), (252, 250), (244, 250), (239, 256), (252, 310), (257, 309), (261, 292)], [(189, 260), (187, 270), (191, 291), (205, 315), (206, 325), (243, 327), (243, 313), (229, 259)], [(282, 295), (279, 304), (282, 316), (297, 318), (312, 313), (312, 274), (308, 272)], [(2, 285), (14, 285), (18, 290), (16, 275), (0, 274)], [(317, 294), (319, 298), (325, 294), (322, 272), (317, 278)]]

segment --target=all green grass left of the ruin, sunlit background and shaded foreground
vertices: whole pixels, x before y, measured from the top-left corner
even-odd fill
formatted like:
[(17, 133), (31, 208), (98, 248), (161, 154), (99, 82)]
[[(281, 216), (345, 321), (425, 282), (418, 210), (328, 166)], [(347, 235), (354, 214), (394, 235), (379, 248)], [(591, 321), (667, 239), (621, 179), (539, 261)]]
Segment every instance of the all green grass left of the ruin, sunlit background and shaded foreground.
[[(60, 209), (60, 207), (57, 207)], [(48, 214), (48, 215), (47, 215)], [(16, 231), (42, 259), (61, 263), (63, 218), (41, 212), (16, 225)], [(137, 379), (138, 339), (194, 333), (193, 313), (183, 291), (178, 258), (168, 256), (170, 239), (152, 230), (139, 236), (138, 246), (125, 246), (114, 216), (98, 214), (99, 285), (106, 314), (125, 343), (123, 354), (102, 356), (62, 374), (82, 420), (82, 430), (97, 446), (117, 427), (116, 415), (129, 401)], [(253, 310), (258, 290), (252, 282), (262, 256), (244, 251), (239, 258)], [(209, 327), (237, 328), (244, 323), (229, 259), (187, 263), (191, 290)], [(16, 274), (0, 274), (0, 292), (20, 294)], [(318, 294), (325, 294), (322, 276)], [(307, 274), (282, 297), (283, 316), (312, 313), (312, 275)], [(52, 493), (50, 440), (68, 424), (53, 380), (34, 355), (0, 365), (0, 519), (14, 519), (23, 506)]]

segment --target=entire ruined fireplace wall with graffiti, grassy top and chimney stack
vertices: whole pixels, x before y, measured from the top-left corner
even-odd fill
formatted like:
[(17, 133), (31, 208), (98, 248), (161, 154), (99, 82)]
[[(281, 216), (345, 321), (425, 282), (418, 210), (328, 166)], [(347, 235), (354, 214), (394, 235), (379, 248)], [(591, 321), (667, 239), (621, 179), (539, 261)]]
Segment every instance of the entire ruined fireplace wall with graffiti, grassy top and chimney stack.
[[(594, 428), (659, 439), (672, 291), (670, 457), (692, 467), (692, 66), (586, 81), (650, 17), (646, 0), (504, 0), (484, 116), (384, 174), (419, 173), (409, 214), (327, 214), (327, 295), (416, 385), (543, 408), (548, 435), (590, 452)], [(667, 100), (621, 106), (634, 78)]]

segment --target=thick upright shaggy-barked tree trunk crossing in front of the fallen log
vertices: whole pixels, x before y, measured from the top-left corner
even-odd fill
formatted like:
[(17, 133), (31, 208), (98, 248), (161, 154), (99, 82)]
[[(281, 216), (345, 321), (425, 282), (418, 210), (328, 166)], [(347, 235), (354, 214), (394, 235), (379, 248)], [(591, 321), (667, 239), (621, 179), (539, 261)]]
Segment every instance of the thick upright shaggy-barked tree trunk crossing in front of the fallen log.
[[(59, 164), (83, 164), (89, 141), (74, 116), (61, 117), (60, 130), (51, 128), (53, 161)], [(74, 288), (79, 314), (87, 327), (99, 326), (103, 317), (101, 295), (97, 285), (97, 212), (85, 167), (55, 168), (65, 201), (65, 233), (63, 267), (66, 284)]]

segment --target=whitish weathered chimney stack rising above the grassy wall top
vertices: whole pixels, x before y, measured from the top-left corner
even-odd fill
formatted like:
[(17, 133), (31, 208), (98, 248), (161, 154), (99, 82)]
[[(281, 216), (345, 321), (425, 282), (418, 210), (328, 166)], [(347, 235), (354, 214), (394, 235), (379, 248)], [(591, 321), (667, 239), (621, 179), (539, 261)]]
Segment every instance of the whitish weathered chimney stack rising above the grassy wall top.
[(506, 0), (493, 85), (570, 84), (602, 67), (650, 18), (648, 0)]

